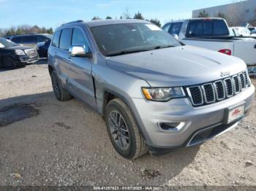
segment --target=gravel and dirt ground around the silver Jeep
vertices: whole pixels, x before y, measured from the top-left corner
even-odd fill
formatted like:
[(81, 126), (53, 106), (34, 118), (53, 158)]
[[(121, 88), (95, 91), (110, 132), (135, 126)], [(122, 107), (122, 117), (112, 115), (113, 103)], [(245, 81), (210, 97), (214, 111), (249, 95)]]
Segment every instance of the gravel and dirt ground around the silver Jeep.
[(56, 100), (46, 64), (0, 71), (0, 117), (8, 112), (17, 116), (0, 123), (0, 185), (256, 186), (256, 102), (222, 136), (135, 161), (115, 152), (89, 106)]

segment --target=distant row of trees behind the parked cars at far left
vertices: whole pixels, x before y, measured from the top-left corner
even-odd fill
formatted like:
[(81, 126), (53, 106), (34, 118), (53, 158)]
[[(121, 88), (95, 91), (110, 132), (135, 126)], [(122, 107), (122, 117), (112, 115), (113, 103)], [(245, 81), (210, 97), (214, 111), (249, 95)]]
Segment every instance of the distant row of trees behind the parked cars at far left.
[(53, 28), (45, 28), (29, 25), (23, 26), (12, 26), (11, 28), (0, 28), (0, 36), (10, 36), (10, 35), (19, 35), (19, 34), (53, 34)]

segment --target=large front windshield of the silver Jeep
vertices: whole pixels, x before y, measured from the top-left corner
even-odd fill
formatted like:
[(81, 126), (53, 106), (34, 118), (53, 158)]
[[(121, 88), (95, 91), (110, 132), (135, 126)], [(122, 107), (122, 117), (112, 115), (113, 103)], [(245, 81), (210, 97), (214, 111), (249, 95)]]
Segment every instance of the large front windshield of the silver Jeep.
[(103, 55), (122, 55), (181, 44), (170, 34), (151, 23), (121, 23), (91, 27)]

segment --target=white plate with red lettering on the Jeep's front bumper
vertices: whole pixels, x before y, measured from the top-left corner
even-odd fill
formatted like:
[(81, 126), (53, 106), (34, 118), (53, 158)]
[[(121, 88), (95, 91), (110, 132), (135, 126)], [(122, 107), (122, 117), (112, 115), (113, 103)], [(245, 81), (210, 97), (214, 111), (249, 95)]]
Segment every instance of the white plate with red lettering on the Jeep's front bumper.
[(225, 110), (225, 124), (230, 124), (236, 120), (239, 120), (244, 117), (245, 113), (245, 103), (238, 104), (236, 106), (227, 108)]

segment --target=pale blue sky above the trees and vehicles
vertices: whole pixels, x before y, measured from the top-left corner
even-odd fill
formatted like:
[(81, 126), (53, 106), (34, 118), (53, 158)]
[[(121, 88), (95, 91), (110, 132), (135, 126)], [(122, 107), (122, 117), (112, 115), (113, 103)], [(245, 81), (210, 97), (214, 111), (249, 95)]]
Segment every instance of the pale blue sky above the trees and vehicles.
[(72, 20), (91, 20), (107, 15), (120, 17), (129, 7), (131, 16), (158, 18), (162, 24), (192, 17), (193, 9), (228, 4), (233, 0), (0, 0), (0, 28), (23, 24), (53, 27)]

